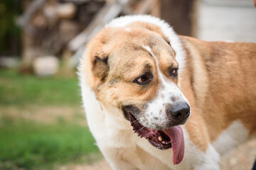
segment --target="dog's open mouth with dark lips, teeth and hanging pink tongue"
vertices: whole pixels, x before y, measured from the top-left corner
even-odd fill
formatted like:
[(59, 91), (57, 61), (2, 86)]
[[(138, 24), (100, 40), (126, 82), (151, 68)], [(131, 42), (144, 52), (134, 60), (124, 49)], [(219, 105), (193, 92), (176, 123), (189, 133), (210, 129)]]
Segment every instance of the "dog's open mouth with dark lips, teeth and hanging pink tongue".
[(125, 116), (130, 121), (134, 132), (139, 137), (149, 140), (154, 147), (158, 149), (169, 149), (172, 147), (174, 151), (174, 165), (182, 161), (184, 155), (184, 137), (181, 126), (174, 126), (166, 130), (153, 130), (139, 123), (139, 120), (131, 112), (125, 111)]

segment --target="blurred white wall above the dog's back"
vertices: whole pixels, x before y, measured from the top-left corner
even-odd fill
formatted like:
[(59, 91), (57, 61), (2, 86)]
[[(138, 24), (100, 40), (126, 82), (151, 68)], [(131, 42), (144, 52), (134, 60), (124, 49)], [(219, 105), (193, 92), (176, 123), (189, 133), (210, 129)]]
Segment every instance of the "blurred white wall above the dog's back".
[(196, 38), (256, 42), (253, 0), (198, 0), (196, 11)]

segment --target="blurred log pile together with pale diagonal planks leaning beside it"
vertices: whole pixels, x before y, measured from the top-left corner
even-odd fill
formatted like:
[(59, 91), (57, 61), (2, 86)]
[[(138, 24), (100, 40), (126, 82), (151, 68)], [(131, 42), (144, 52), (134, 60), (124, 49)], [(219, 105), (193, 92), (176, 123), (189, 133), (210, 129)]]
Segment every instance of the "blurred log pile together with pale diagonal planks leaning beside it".
[[(160, 0), (25, 0), (25, 12), (17, 19), (18, 25), (23, 28), (23, 70), (31, 70), (36, 57), (50, 55), (70, 60), (71, 55), (83, 50), (86, 42), (112, 18), (138, 13), (158, 16), (159, 2)], [(71, 67), (77, 61), (73, 57)]]

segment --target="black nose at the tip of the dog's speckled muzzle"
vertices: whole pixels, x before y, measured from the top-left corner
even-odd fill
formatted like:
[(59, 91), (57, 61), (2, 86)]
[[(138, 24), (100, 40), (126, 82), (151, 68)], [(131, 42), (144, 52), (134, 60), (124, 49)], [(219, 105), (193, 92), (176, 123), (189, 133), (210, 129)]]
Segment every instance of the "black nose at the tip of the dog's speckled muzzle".
[(186, 120), (190, 115), (190, 107), (185, 102), (175, 102), (170, 108), (168, 108), (168, 114), (171, 119), (179, 122)]

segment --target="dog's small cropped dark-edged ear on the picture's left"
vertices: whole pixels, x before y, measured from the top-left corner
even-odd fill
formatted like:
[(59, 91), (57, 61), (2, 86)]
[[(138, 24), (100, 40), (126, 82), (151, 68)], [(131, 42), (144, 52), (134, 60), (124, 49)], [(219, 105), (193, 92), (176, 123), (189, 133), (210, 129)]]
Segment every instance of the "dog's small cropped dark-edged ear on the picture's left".
[(99, 79), (105, 79), (109, 72), (107, 63), (108, 55), (105, 52), (100, 52), (92, 57), (92, 73)]

